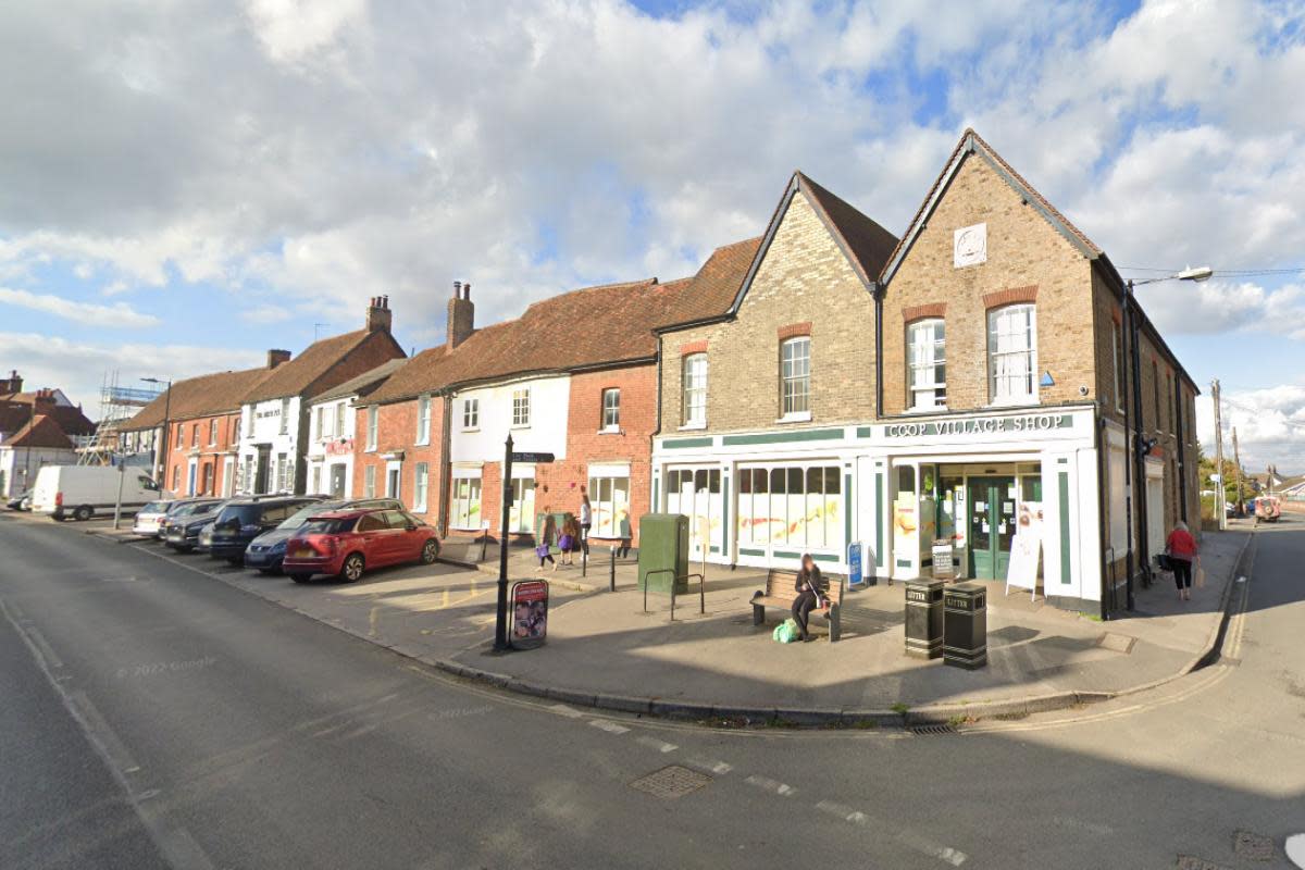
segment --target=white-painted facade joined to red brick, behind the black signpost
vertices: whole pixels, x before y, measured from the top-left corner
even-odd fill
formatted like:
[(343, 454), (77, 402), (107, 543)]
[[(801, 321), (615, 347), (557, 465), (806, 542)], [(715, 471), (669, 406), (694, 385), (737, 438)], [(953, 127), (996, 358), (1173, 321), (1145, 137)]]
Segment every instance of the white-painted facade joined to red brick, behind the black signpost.
[[(566, 458), (566, 416), (570, 377), (555, 374), (505, 381), (458, 390), (452, 397), (449, 420), (449, 528), (479, 531), (497, 505), (482, 497), (483, 480), (502, 475), (504, 442), (512, 434), (518, 453), (551, 453)], [(509, 532), (534, 531), (535, 509), (543, 509), (535, 493), (535, 467), (513, 466), (513, 509)], [(492, 490), (497, 490), (493, 487)], [(560, 507), (559, 505), (552, 505)]]

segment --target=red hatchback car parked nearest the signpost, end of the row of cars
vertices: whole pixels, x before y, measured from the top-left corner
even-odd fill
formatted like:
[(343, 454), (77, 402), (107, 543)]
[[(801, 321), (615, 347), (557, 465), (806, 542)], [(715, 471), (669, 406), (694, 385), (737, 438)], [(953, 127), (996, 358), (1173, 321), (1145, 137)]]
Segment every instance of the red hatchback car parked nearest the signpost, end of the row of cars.
[(335, 510), (305, 522), (286, 541), (286, 574), (307, 583), (331, 574), (350, 583), (369, 567), (440, 557), (435, 528), (402, 510)]

